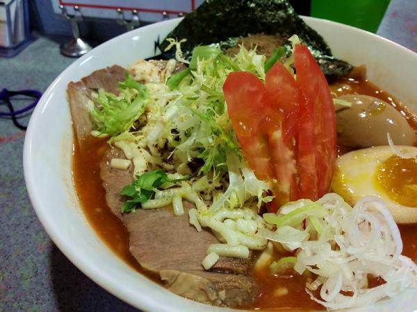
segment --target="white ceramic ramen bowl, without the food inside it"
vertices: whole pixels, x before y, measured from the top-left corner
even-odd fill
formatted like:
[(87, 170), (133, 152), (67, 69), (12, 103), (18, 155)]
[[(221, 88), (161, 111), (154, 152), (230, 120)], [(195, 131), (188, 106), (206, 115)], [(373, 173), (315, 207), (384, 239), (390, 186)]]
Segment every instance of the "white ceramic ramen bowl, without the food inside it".
[[(366, 64), (368, 78), (408, 104), (417, 100), (417, 54), (382, 37), (332, 21), (304, 18), (331, 46), (336, 57)], [(166, 291), (117, 258), (83, 215), (72, 182), (72, 125), (65, 90), (95, 69), (129, 67), (154, 55), (161, 39), (180, 19), (125, 33), (93, 49), (65, 69), (49, 86), (32, 114), (24, 142), (26, 186), (38, 218), (58, 248), (97, 284), (147, 311), (224, 311)], [(413, 311), (417, 291), (363, 311)], [(361, 310), (362, 311), (362, 310)]]

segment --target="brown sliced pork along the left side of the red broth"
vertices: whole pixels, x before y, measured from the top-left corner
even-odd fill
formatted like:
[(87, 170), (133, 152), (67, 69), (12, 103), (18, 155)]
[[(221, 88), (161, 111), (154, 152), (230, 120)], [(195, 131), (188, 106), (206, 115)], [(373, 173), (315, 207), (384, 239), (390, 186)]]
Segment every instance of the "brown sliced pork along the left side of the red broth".
[[(161, 61), (158, 62), (161, 66)], [(124, 80), (124, 76), (125, 69), (114, 65), (68, 85), (67, 98), (77, 140), (84, 139), (92, 130), (87, 107), (91, 92), (102, 87), (117, 94), (118, 83)], [(124, 198), (119, 194), (133, 177), (132, 168), (128, 171), (111, 168), (110, 161), (115, 157), (124, 158), (124, 154), (117, 148), (111, 148), (100, 165), (106, 202), (128, 229), (130, 250), (140, 265), (158, 274), (167, 289), (183, 297), (226, 306), (254, 302), (259, 286), (247, 276), (251, 259), (220, 257), (210, 272), (204, 270), (201, 261), (206, 250), (218, 241), (211, 232), (197, 232), (190, 226), (189, 205), (184, 205), (186, 214), (179, 217), (174, 216), (171, 207), (121, 214)]]

